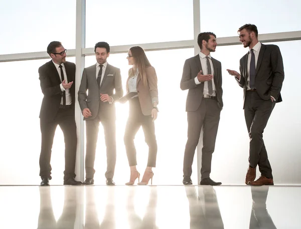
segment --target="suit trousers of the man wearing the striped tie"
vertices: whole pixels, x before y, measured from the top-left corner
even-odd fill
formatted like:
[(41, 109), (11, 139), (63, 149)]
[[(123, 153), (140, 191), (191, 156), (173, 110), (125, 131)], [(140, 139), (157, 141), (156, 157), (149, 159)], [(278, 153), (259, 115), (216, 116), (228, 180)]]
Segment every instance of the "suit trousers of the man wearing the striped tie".
[(212, 153), (215, 148), (215, 140), (220, 120), (221, 109), (217, 100), (202, 99), (196, 111), (187, 112), (188, 139), (184, 152), (184, 176), (191, 176), (194, 154), (199, 143), (203, 127), (203, 148), (201, 178), (208, 178), (211, 172)]

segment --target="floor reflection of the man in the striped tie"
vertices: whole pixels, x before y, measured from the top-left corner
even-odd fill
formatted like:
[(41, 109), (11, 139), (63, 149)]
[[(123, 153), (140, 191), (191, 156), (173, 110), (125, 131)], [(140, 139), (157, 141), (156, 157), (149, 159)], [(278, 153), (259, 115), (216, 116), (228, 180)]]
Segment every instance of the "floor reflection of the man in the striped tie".
[(223, 219), (219, 209), (216, 192), (212, 186), (185, 187), (189, 201), (190, 229), (224, 228)]

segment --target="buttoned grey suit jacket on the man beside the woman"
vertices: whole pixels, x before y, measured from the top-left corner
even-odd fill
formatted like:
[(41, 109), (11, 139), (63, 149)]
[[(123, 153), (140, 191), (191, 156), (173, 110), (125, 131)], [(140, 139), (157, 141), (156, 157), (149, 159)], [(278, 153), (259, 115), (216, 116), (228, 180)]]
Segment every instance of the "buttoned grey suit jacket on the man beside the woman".
[(81, 110), (89, 108), (92, 113), (92, 116), (84, 120), (94, 119), (98, 111), (105, 118), (115, 119), (114, 103), (101, 102), (100, 94), (108, 94), (114, 102), (123, 95), (120, 69), (108, 64), (100, 87), (97, 85), (96, 64), (84, 69), (78, 91), (78, 102)]

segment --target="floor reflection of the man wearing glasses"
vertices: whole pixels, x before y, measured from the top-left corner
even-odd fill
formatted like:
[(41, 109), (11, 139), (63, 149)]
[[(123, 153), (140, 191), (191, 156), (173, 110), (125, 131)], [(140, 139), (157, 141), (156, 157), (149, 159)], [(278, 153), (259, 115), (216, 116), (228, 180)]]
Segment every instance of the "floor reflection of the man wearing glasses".
[(56, 221), (52, 200), (51, 188), (40, 187), (40, 213), (38, 218), (38, 229), (73, 229), (76, 217), (78, 202), (76, 198), (76, 188), (64, 186), (64, 206), (63, 212)]

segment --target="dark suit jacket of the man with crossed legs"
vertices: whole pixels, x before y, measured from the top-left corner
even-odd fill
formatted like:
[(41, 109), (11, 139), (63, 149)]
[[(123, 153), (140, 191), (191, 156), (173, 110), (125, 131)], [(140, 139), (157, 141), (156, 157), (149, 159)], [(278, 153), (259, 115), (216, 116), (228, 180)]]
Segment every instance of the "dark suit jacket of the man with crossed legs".
[[(246, 92), (248, 77), (248, 53), (240, 59), (240, 79), (237, 80), (240, 87)], [(276, 45), (261, 44), (255, 71), (255, 88), (263, 100), (272, 97), (276, 102), (281, 102), (281, 87), (284, 80), (284, 70), (282, 56), (279, 47)]]

